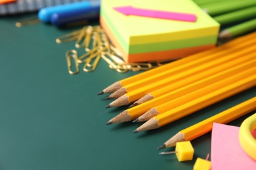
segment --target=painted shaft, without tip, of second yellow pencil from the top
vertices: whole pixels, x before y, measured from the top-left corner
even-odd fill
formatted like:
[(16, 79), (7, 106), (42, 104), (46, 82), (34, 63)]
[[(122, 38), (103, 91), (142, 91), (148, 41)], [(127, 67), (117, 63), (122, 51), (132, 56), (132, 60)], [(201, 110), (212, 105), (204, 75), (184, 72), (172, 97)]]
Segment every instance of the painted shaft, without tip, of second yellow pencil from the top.
[[(236, 46), (235, 50), (240, 50), (241, 48), (244, 48), (245, 46), (249, 44), (256, 43), (254, 39), (251, 39), (245, 43), (238, 44)], [(166, 71), (162, 71), (159, 74), (152, 75), (152, 76), (147, 76), (145, 78), (142, 78), (141, 80), (138, 80), (136, 82), (133, 82), (131, 84), (128, 84), (125, 86), (125, 91), (126, 92), (132, 92), (133, 90), (137, 90), (139, 88), (144, 88), (148, 84), (155, 83), (156, 80), (161, 80), (161, 79), (167, 79), (170, 76), (174, 77), (175, 75), (181, 75), (181, 73), (189, 73), (190, 69), (194, 69), (194, 67), (200, 67), (200, 65), (205, 65), (205, 63), (212, 63), (213, 60), (219, 59), (217, 56), (223, 56), (225, 54), (230, 54), (230, 52), (233, 52), (233, 48), (228, 48), (223, 51), (218, 51), (216, 53), (210, 54), (208, 56), (205, 56), (203, 58), (196, 59), (194, 61), (190, 61), (189, 63), (184, 63), (182, 65), (178, 65), (177, 67), (172, 67), (167, 69)]]

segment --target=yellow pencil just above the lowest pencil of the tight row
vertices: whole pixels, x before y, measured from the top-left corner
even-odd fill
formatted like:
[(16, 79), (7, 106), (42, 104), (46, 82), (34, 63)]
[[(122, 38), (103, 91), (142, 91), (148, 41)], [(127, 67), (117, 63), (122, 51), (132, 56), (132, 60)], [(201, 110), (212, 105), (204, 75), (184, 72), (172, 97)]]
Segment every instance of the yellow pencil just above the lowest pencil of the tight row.
[(144, 122), (146, 120), (150, 120), (150, 118), (153, 118), (158, 114), (166, 112), (167, 110), (174, 109), (175, 107), (178, 107), (184, 103), (187, 103), (188, 101), (192, 101), (200, 96), (205, 95), (208, 92), (213, 92), (215, 90), (218, 90), (220, 86), (223, 87), (225, 84), (232, 83), (232, 81), (236, 82), (238, 80), (237, 79), (238, 76), (236, 75), (236, 73), (241, 73), (247, 69), (253, 68), (255, 67), (255, 65), (256, 65), (256, 58), (252, 59), (251, 61), (248, 61), (247, 63), (242, 65), (242, 67), (238, 67), (237, 69), (232, 69), (233, 71), (225, 72), (224, 74), (223, 73), (218, 74), (219, 76), (215, 76), (215, 78), (210, 79), (210, 82), (212, 84), (208, 83), (208, 86), (205, 86), (205, 87), (200, 86), (196, 90), (194, 90), (194, 92), (192, 93), (188, 92), (187, 94), (184, 94), (181, 97), (178, 97), (176, 99), (170, 99), (170, 101), (148, 110), (133, 122)]

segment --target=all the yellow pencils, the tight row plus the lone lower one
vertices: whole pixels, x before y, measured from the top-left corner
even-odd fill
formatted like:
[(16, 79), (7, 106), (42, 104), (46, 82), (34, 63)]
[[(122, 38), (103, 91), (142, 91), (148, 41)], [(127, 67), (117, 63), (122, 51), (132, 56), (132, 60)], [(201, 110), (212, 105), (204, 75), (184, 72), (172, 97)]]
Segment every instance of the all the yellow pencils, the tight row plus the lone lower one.
[[(107, 124), (145, 122), (135, 129), (156, 129), (256, 85), (256, 32), (221, 46), (125, 78), (98, 94), (116, 98), (106, 107), (130, 105)], [(177, 133), (160, 148), (190, 141), (256, 109), (256, 97)], [(195, 132), (197, 131), (197, 133)]]

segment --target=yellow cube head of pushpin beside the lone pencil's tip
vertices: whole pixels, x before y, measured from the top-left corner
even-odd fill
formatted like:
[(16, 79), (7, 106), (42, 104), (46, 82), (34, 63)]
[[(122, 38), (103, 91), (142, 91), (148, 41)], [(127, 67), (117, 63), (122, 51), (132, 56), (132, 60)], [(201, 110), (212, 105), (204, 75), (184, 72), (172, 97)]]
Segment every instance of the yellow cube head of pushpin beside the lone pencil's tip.
[(190, 141), (176, 143), (175, 151), (179, 161), (193, 160), (194, 148)]

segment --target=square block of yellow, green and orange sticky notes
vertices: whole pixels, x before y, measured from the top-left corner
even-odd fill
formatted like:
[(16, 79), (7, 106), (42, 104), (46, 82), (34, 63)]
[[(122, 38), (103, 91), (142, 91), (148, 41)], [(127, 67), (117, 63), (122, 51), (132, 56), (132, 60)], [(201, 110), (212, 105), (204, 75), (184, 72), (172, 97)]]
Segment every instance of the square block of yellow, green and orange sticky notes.
[[(147, 12), (124, 8), (123, 14), (119, 7)], [(148, 11), (152, 16), (143, 16)], [(191, 14), (196, 20), (157, 18), (154, 11)], [(178, 59), (214, 48), (220, 27), (191, 0), (102, 0), (100, 25), (127, 63)]]

